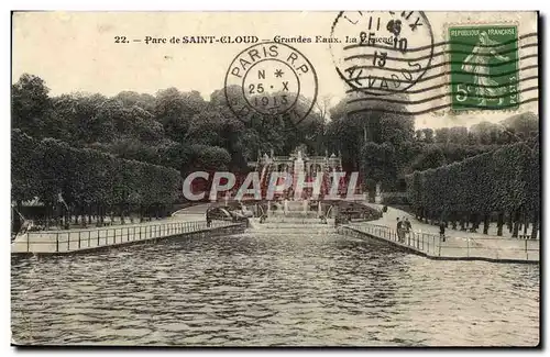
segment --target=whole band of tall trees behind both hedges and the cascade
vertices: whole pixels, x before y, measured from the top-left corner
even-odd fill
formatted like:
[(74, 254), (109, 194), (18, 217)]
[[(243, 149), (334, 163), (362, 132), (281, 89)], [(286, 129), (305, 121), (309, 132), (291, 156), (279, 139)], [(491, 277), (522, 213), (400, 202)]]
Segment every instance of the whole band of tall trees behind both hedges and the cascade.
[[(229, 88), (239, 90), (239, 88)], [(305, 105), (307, 99), (300, 101)], [(351, 93), (338, 103), (320, 98), (307, 119), (294, 125), (285, 115), (274, 121), (252, 112), (245, 120), (229, 109), (223, 89), (210, 100), (197, 91), (176, 88), (156, 94), (122, 91), (113, 97), (90, 93), (48, 94), (45, 82), (23, 75), (12, 86), (12, 124), (32, 137), (54, 137), (74, 147), (91, 147), (121, 158), (175, 168), (183, 174), (202, 163), (233, 171), (246, 169), (257, 152), (288, 155), (304, 144), (309, 154), (341, 155), (344, 170), (366, 169), (371, 180), (383, 178), (386, 191), (414, 170), (463, 160), (537, 133), (532, 113), (510, 116), (501, 124), (421, 129), (415, 132), (403, 104), (364, 101)], [(216, 147), (220, 156), (205, 163), (194, 147)], [(224, 153), (221, 153), (224, 150)], [(380, 154), (383, 154), (381, 159)], [(227, 160), (228, 155), (230, 157)], [(363, 175), (366, 177), (367, 175)]]

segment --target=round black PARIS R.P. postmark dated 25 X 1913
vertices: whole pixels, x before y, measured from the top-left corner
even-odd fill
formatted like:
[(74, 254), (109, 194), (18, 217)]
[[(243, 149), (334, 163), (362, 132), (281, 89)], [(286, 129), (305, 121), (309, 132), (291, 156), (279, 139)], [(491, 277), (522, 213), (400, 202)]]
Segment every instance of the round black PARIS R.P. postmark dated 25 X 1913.
[(243, 122), (254, 115), (285, 115), (297, 125), (311, 112), (317, 90), (311, 63), (298, 49), (282, 43), (263, 42), (245, 48), (226, 74), (226, 100)]

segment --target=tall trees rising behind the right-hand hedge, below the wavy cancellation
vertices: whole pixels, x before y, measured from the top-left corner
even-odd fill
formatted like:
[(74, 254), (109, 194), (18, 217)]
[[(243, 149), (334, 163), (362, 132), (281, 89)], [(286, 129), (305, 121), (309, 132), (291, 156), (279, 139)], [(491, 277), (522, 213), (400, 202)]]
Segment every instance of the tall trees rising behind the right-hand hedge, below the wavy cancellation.
[(369, 101), (350, 94), (330, 109), (326, 146), (340, 152), (345, 170), (363, 171), (370, 191), (375, 181), (384, 191), (402, 190), (399, 179), (415, 170), (427, 170), (468, 157), (534, 138), (538, 118), (532, 113), (510, 116), (501, 123), (419, 129), (410, 115), (387, 114), (380, 109), (406, 112), (403, 104), (380, 99)]

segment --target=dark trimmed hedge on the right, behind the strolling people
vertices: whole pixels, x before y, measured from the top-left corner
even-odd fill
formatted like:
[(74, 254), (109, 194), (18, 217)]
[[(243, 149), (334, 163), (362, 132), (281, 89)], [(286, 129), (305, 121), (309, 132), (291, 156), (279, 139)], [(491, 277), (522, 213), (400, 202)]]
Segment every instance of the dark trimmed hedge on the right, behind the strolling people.
[(524, 143), (406, 176), (417, 215), (444, 221), (464, 214), (488, 220), (493, 212), (508, 212), (515, 222), (522, 216), (522, 222), (537, 223), (539, 181), (538, 145), (531, 149)]

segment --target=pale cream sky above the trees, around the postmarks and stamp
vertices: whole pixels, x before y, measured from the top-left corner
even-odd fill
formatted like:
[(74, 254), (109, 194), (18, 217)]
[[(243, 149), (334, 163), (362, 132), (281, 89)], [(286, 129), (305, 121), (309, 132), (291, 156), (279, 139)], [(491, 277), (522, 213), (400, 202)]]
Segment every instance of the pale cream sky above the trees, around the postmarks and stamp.
[[(317, 35), (329, 37), (337, 12), (22, 12), (13, 16), (12, 80), (23, 72), (40, 76), (51, 94), (73, 91), (114, 96), (123, 90), (154, 94), (158, 89), (176, 87), (198, 90), (209, 98), (223, 88), (233, 58), (250, 44), (148, 44), (145, 36), (238, 36), (255, 35), (262, 40)], [(435, 43), (447, 41), (449, 24), (480, 21), (516, 23), (519, 35), (537, 31), (535, 12), (427, 12)], [(353, 35), (356, 35), (353, 33)], [(116, 43), (125, 36), (128, 44)], [(142, 40), (142, 42), (133, 42)], [(318, 99), (344, 96), (346, 85), (336, 69), (327, 43), (294, 43), (314, 66), (318, 77)], [(342, 45), (340, 45), (342, 46)], [(529, 48), (529, 54), (537, 48)], [(334, 52), (332, 52), (334, 53)], [(521, 54), (522, 56), (525, 54)], [(443, 58), (442, 58), (443, 59)], [(432, 63), (433, 64), (433, 63)], [(534, 58), (527, 65), (537, 64)], [(436, 69), (435, 72), (437, 74)], [(537, 75), (537, 69), (520, 76)], [(428, 72), (427, 72), (428, 75)], [(446, 80), (441, 77), (440, 80)], [(536, 80), (526, 86), (536, 86)], [(307, 86), (307, 85), (306, 85)], [(416, 85), (421, 86), (420, 83)], [(444, 87), (442, 90), (449, 90)], [(422, 94), (419, 94), (422, 96)], [(433, 96), (433, 94), (432, 94)], [(538, 90), (527, 97), (538, 96)], [(421, 98), (421, 97), (420, 97)], [(415, 98), (418, 99), (418, 98)], [(436, 107), (438, 103), (431, 105)], [(415, 109), (416, 110), (416, 109)], [(415, 111), (413, 110), (413, 111)], [(518, 112), (538, 113), (537, 103)], [(515, 112), (422, 114), (417, 127), (471, 125), (482, 120), (497, 122)]]

